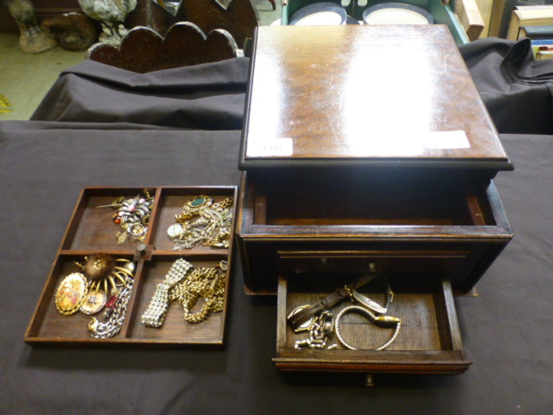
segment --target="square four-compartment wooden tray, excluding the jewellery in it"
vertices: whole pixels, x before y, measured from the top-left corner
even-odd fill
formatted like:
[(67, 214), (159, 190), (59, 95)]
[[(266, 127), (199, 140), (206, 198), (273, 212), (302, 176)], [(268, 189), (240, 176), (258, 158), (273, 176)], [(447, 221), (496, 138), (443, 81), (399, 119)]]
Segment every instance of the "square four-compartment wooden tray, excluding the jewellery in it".
[[(114, 224), (112, 220), (116, 210), (111, 207), (97, 208), (96, 206), (109, 205), (118, 196), (133, 198), (138, 194), (144, 194), (143, 188), (90, 187), (81, 191), (65, 237), (25, 333), (26, 343), (33, 346), (84, 347), (223, 345), (233, 238), (230, 238), (228, 248), (199, 245), (176, 251), (172, 238), (167, 234), (167, 229), (175, 223), (175, 215), (182, 212), (182, 207), (187, 202), (196, 196), (205, 195), (213, 198), (214, 203), (226, 198), (232, 199), (233, 204), (229, 206), (229, 210), (233, 213), (230, 230), (233, 235), (238, 189), (236, 186), (157, 186), (148, 189), (154, 196), (154, 203), (142, 250), (137, 249), (140, 242), (133, 241), (131, 238), (119, 244), (115, 235), (121, 227)], [(80, 271), (74, 261), (83, 261), (85, 256), (100, 253), (111, 255), (113, 258), (132, 260), (136, 264), (134, 285), (121, 332), (107, 339), (91, 337), (87, 324), (92, 316), (81, 312), (62, 315), (55, 304), (56, 289), (61, 279), (72, 272)], [(190, 324), (184, 320), (183, 308), (175, 301), (169, 304), (169, 310), (160, 328), (143, 325), (140, 318), (152, 299), (156, 285), (164, 281), (171, 264), (178, 258), (190, 262), (195, 268), (212, 268), (221, 261), (228, 262), (222, 312), (210, 314), (201, 323)], [(191, 312), (197, 312), (201, 305), (202, 299), (199, 299)], [(101, 313), (95, 317), (102, 321)]]

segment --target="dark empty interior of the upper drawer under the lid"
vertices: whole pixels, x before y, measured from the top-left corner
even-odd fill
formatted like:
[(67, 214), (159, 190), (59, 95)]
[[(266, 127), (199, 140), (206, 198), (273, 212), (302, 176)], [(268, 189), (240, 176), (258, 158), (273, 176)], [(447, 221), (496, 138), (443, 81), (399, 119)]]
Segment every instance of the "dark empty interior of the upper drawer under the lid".
[(252, 176), (247, 197), (253, 199), (253, 225), (496, 225), (478, 182)]

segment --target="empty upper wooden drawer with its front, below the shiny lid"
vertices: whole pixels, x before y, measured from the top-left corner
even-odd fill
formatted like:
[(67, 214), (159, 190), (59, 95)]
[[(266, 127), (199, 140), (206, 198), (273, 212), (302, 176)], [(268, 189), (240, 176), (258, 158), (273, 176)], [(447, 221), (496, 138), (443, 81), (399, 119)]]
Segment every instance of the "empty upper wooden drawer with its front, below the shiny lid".
[[(440, 175), (438, 175), (440, 176)], [(433, 275), (468, 292), (512, 238), (489, 179), (244, 173), (238, 245), (248, 292), (283, 273)]]

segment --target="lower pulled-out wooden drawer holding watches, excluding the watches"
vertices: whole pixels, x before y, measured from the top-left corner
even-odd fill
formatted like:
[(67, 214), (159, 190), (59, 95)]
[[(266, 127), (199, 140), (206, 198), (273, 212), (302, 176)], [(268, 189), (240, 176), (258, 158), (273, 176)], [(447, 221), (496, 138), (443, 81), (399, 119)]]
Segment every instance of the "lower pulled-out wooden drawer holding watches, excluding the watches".
[[(455, 375), (465, 372), (472, 362), (463, 359), (457, 313), (451, 283), (435, 278), (389, 277), (394, 291), (388, 315), (401, 319), (397, 338), (385, 350), (348, 350), (336, 334), (326, 349), (295, 349), (296, 341), (309, 333), (294, 333), (286, 317), (300, 305), (311, 304), (353, 281), (352, 274), (289, 274), (278, 281), (278, 323), (276, 367), (286, 371), (335, 371), (373, 373), (425, 373)], [(359, 289), (379, 304), (385, 303), (380, 284), (371, 282)], [(336, 318), (351, 305), (346, 299), (330, 311)], [(372, 349), (384, 343), (394, 328), (381, 328), (361, 314), (344, 314), (340, 333), (359, 349)], [(327, 347), (328, 347), (327, 345)]]

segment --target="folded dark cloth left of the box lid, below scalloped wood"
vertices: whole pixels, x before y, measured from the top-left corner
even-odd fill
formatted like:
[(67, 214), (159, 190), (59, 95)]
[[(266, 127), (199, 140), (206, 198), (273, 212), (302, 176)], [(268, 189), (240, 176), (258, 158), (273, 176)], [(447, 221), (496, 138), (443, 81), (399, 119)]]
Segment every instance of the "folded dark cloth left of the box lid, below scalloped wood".
[(33, 121), (242, 128), (249, 59), (136, 74), (85, 60), (62, 72)]

